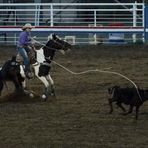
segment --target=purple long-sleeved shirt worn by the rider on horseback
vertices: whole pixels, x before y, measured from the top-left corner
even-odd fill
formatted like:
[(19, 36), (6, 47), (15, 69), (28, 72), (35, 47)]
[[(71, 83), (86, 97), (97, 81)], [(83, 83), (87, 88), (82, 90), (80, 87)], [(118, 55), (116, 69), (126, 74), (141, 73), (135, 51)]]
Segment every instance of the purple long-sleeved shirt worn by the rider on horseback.
[(28, 46), (31, 42), (31, 35), (30, 32), (23, 31), (20, 33), (19, 39), (18, 39), (18, 46)]

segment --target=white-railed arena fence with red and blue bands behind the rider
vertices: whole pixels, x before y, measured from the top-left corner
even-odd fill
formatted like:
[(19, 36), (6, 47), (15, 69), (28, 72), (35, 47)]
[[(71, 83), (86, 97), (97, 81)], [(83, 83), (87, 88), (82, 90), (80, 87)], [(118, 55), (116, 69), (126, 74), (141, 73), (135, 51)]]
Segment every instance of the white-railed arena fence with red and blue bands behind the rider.
[[(145, 42), (144, 3), (0, 3), (0, 43), (16, 44), (25, 23), (45, 42), (57, 33), (73, 44)], [(147, 28), (146, 28), (147, 27)]]

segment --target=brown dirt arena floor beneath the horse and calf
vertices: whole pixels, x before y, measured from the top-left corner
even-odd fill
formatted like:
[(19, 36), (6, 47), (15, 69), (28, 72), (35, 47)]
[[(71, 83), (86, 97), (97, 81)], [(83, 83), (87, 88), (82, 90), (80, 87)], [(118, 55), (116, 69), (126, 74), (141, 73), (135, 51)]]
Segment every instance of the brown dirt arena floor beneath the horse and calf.
[[(0, 64), (16, 53), (0, 47)], [(148, 46), (77, 46), (54, 60), (73, 72), (101, 69), (119, 72), (148, 89)], [(140, 108), (138, 121), (119, 108), (108, 114), (107, 89), (113, 85), (133, 87), (126, 79), (106, 73), (71, 74), (52, 64), (56, 97), (43, 102), (43, 84), (27, 80), (34, 98), (16, 97), (13, 84), (0, 99), (1, 148), (147, 148), (148, 102)], [(125, 106), (126, 107), (126, 106)], [(128, 108), (128, 106), (126, 107)]]

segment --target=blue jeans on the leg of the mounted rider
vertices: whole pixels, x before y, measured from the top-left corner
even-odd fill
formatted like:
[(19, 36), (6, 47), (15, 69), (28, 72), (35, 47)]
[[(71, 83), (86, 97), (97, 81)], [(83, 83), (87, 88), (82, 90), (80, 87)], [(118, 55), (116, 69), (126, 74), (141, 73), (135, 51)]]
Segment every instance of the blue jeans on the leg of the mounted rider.
[(30, 71), (30, 63), (29, 63), (29, 57), (28, 57), (26, 50), (23, 47), (17, 47), (17, 50), (18, 50), (19, 54), (23, 57), (23, 62), (25, 65), (25, 72), (29, 72)]

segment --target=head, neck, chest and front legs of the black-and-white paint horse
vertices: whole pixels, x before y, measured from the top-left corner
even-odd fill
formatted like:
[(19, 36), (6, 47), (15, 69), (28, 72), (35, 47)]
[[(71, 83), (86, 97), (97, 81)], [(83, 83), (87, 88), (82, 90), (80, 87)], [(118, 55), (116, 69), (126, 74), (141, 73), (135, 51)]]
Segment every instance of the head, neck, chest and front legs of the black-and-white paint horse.
[[(42, 98), (46, 99), (48, 95), (55, 96), (54, 81), (50, 76), (51, 62), (55, 56), (56, 51), (67, 51), (71, 49), (72, 45), (55, 34), (48, 37), (48, 42), (39, 50), (36, 50), (36, 58), (32, 60), (31, 66), (33, 67), (35, 76), (41, 80), (45, 86)], [(49, 88), (51, 85), (51, 88)], [(51, 93), (49, 93), (51, 89)]]

